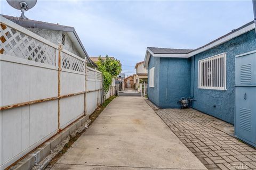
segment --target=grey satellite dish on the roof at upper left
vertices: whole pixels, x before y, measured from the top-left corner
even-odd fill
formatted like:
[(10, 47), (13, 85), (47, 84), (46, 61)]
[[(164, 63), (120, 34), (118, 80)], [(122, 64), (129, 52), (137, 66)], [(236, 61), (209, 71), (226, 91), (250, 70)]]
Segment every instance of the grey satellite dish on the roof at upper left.
[(37, 0), (6, 0), (9, 5), (17, 10), (21, 10), (20, 18), (28, 19), (24, 12), (33, 8), (36, 5)]

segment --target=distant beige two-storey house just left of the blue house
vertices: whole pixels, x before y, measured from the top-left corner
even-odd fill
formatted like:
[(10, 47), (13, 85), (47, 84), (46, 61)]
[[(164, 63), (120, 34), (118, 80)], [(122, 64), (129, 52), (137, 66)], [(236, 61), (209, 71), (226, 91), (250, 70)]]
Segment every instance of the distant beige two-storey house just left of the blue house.
[(144, 61), (139, 62), (135, 65), (135, 69), (136, 69), (136, 76), (134, 78), (134, 86), (135, 89), (139, 88), (139, 84), (142, 81), (148, 81), (148, 70), (143, 66), (144, 65)]

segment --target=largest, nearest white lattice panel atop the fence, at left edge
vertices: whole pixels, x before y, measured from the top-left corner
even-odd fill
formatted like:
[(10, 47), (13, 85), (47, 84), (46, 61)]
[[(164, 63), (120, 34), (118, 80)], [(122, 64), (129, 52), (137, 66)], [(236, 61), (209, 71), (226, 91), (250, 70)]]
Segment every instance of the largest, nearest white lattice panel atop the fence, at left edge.
[(56, 64), (56, 49), (1, 23), (1, 54)]

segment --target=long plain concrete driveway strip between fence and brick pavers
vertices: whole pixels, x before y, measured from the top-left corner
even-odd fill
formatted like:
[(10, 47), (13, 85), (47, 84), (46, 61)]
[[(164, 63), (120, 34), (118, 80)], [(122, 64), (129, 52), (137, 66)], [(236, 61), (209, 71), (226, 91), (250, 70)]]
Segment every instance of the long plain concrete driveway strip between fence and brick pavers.
[(51, 169), (206, 169), (142, 97), (117, 97)]

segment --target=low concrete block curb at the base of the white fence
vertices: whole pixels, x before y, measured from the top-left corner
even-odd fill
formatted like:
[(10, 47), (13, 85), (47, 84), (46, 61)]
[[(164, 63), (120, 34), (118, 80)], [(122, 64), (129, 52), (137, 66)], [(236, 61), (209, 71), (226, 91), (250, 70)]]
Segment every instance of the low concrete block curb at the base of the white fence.
[(89, 115), (79, 118), (77, 121), (73, 122), (61, 133), (55, 135), (52, 139), (46, 141), (42, 146), (37, 148), (32, 153), (28, 154), (25, 158), (20, 160), (16, 165), (12, 166), (10, 169), (27, 170), (33, 168), (35, 165), (38, 165), (49, 154), (52, 154), (52, 150), (62, 146), (63, 143), (66, 144), (69, 141), (69, 135), (75, 135), (77, 132), (82, 132), (81, 130), (87, 128), (85, 127), (85, 122), (87, 120), (89, 120)]

